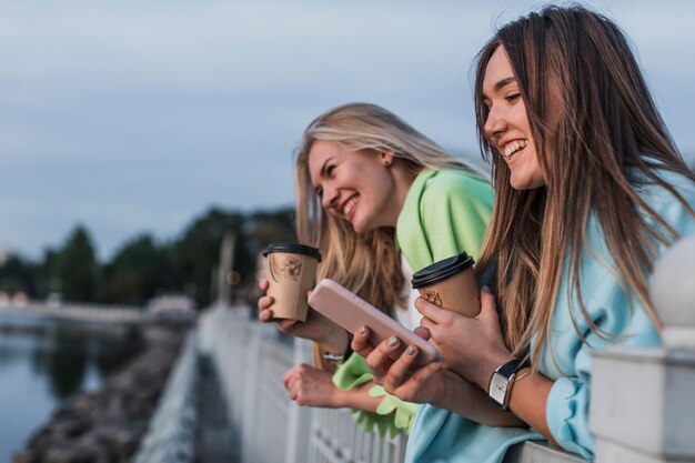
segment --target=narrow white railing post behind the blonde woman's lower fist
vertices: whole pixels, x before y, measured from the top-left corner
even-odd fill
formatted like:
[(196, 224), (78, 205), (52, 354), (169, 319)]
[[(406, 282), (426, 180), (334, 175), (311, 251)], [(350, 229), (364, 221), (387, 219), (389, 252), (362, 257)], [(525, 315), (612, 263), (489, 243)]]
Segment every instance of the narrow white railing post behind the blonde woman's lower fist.
[[(311, 342), (294, 339), (294, 363), (311, 364)], [(309, 461), (309, 439), (311, 427), (311, 409), (290, 403), (288, 411), (288, 440), (285, 444), (285, 463), (306, 463)]]

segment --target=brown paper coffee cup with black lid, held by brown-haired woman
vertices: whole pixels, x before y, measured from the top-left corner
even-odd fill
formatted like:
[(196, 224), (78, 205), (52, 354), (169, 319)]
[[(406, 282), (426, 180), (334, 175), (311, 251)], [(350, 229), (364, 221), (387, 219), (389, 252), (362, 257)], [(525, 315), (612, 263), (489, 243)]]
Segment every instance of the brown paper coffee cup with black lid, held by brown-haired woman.
[(481, 303), (474, 263), (465, 252), (434, 262), (413, 274), (413, 289), (442, 309), (476, 316)]

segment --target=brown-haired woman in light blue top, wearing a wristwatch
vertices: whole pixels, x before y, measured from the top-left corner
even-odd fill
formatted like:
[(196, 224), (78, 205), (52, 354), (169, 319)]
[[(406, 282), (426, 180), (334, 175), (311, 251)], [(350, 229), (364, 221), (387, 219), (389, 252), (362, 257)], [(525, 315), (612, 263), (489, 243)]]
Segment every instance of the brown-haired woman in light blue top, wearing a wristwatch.
[(366, 329), (353, 348), (387, 392), (431, 404), (407, 462), (501, 462), (528, 439), (591, 459), (591, 353), (659, 343), (647, 282), (695, 233), (695, 178), (624, 34), (585, 8), (504, 26), (479, 56), (475, 90), (496, 194), (479, 265), (494, 269), (496, 294), (482, 292), (476, 319), (417, 300), (446, 370), (405, 374), (413, 356), (391, 362)]

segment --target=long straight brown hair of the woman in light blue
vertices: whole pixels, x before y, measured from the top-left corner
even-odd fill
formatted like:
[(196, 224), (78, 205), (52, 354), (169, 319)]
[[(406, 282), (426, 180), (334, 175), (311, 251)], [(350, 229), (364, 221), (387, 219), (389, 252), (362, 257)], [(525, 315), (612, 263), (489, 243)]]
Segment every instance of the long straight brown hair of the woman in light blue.
[[(510, 185), (510, 171), (493, 155), (483, 129), (488, 114), (483, 79), (498, 47), (508, 56), (526, 107), (546, 180), (538, 189), (516, 191)], [(476, 71), (477, 131), (483, 157), (492, 159), (496, 193), (479, 268), (495, 268), (508, 346), (523, 355), (535, 338), (530, 355), (537, 365), (565, 265), (581, 316), (601, 336), (611, 334), (592, 323), (581, 299), (580, 255), (590, 215), (602, 228), (622, 284), (661, 328), (647, 274), (656, 259), (655, 243), (668, 244), (678, 234), (636, 190), (641, 183), (658, 184), (695, 215), (658, 170), (695, 178), (658, 114), (623, 32), (583, 7), (546, 7), (500, 29), (479, 53)], [(551, 99), (560, 108), (553, 127)]]

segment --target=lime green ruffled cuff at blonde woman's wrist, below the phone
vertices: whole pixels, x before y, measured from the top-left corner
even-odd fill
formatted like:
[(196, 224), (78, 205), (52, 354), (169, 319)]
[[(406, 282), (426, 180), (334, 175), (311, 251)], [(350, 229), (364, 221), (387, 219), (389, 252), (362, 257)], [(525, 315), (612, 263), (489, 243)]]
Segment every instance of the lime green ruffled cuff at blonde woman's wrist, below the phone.
[[(372, 373), (364, 358), (359, 354), (350, 355), (345, 363), (343, 363), (333, 375), (333, 383), (342, 390), (349, 390), (369, 381), (372, 381)], [(379, 404), (375, 413), (352, 409), (356, 414), (356, 422), (361, 423), (366, 432), (371, 432), (376, 427), (379, 435), (382, 437), (386, 432), (389, 432), (392, 437), (399, 431), (407, 433), (419, 405), (403, 402), (393, 395), (386, 394), (384, 389), (380, 385), (374, 385), (369, 391), (369, 394), (373, 397), (383, 396), (384, 399)]]

